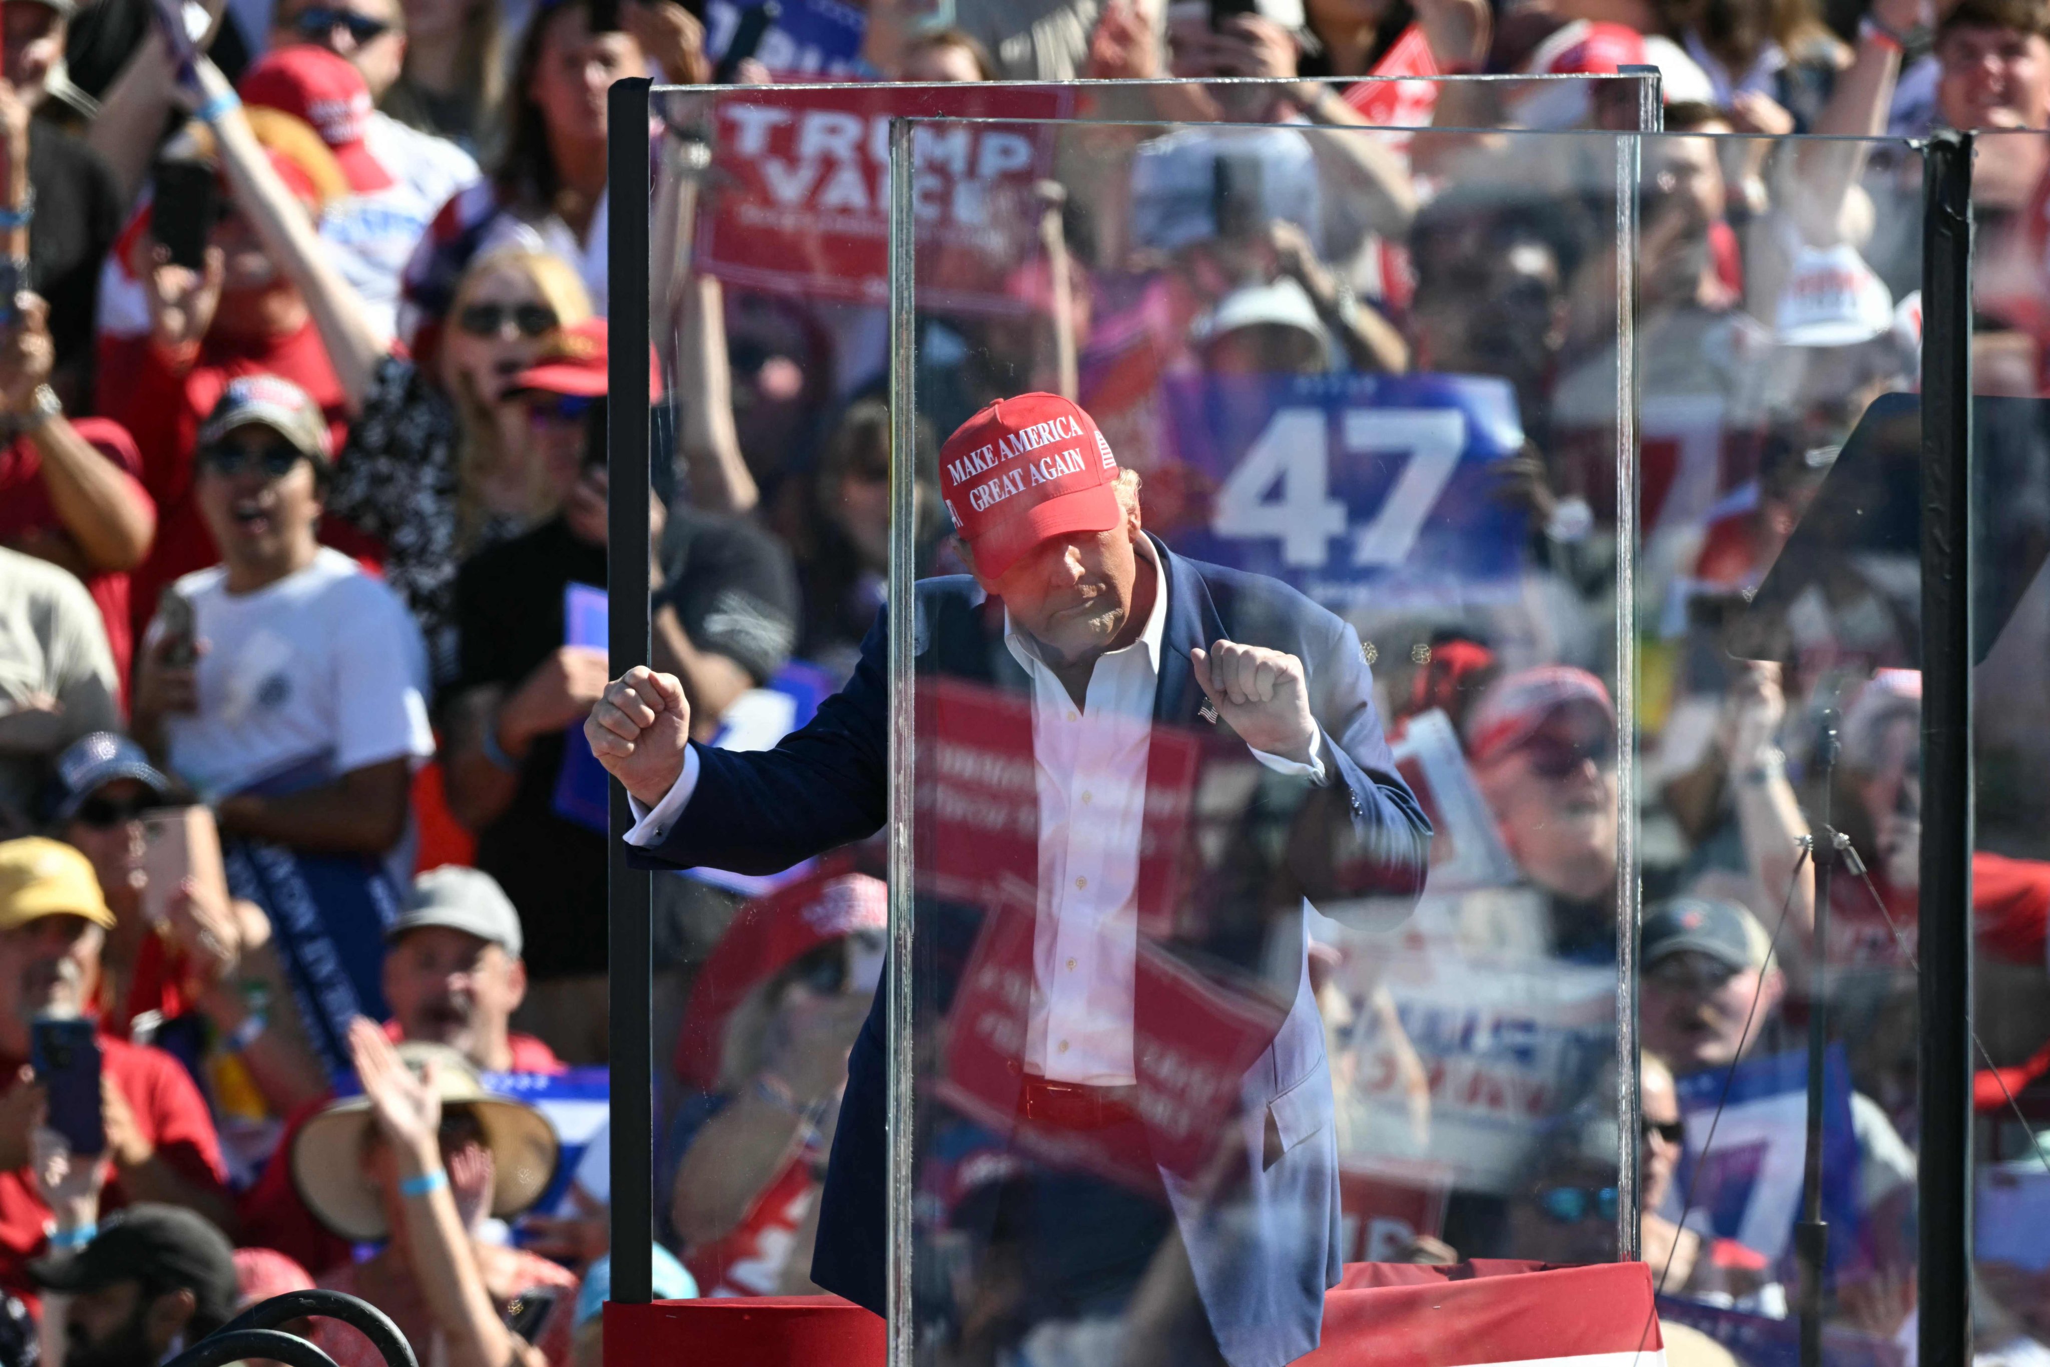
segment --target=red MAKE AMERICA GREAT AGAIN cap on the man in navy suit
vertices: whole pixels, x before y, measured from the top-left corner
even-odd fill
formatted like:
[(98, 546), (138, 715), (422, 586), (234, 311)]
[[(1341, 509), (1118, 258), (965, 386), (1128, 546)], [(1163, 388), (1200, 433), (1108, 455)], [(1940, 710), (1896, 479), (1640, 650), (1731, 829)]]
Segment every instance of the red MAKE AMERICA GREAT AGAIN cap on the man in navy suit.
[(1058, 393), (996, 400), (939, 449), (939, 496), (992, 580), (1041, 541), (1123, 523), (1115, 482), (1111, 443)]

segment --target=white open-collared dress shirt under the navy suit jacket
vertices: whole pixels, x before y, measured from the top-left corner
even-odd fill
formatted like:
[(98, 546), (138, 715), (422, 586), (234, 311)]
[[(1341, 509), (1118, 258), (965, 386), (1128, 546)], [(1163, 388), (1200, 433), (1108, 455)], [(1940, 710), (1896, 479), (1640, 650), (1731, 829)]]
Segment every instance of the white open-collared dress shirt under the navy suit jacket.
[[(1039, 658), (1037, 641), (1004, 611), (1004, 646), (1031, 678), (1033, 767), (1039, 781), (1039, 908), (1033, 926), (1033, 994), (1025, 1019), (1025, 1072), (1050, 1082), (1132, 1086), (1134, 965), (1138, 959), (1140, 824), (1152, 742), (1166, 576), (1152, 541), (1138, 545), (1156, 592), (1140, 639), (1097, 660), (1074, 705)], [(1324, 781), (1322, 758), (1302, 764), (1253, 750), (1289, 775)], [(676, 785), (640, 818), (627, 844), (658, 844), (697, 787), (697, 750)]]

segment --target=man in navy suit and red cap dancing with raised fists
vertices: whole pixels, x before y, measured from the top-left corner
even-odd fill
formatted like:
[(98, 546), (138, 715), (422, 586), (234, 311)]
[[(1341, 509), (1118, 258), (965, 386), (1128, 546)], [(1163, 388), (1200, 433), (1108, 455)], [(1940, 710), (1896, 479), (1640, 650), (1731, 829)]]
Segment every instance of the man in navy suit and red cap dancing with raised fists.
[[(988, 771), (1029, 779), (1015, 820), (968, 859), (959, 828), (920, 812), (920, 883), (949, 857), (955, 883), (984, 883), (955, 892), (951, 910), (920, 887), (933, 955), (918, 961), (947, 982), (914, 992), (953, 1012), (947, 1080), (968, 1113), (1041, 1158), (1084, 1154), (1070, 1166), (1086, 1168), (1011, 1185), (1000, 1211), (984, 1211), (984, 1234), (1023, 1230), (1029, 1246), (1011, 1318), (1072, 1322), (1109, 1306), (1123, 1316), (1119, 1361), (1279, 1367), (1318, 1344), (1341, 1265), (1304, 908), (1404, 916), (1431, 836), (1382, 736), (1359, 637), (1275, 580), (1148, 537), (1138, 475), (1068, 400), (1027, 393), (978, 412), (941, 451), (941, 494), (974, 576), (916, 586), (918, 752), (951, 740), (1031, 760)], [(627, 834), (636, 863), (773, 873), (873, 834), (888, 818), (886, 641), (877, 623), (847, 687), (769, 752), (693, 744), (668, 674), (611, 682), (584, 734), (642, 818)], [(1201, 791), (1197, 750), (1236, 762), (1236, 791), (1250, 793), (1226, 865), (1203, 865), (1187, 830), (1162, 834), (1160, 814)], [(1164, 791), (1171, 769), (1181, 787)], [(1187, 859), (1162, 861), (1164, 840)], [(998, 902), (1023, 910), (1007, 920)], [(966, 926), (951, 951), (945, 926)], [(974, 949), (959, 951), (963, 939)], [(963, 963), (1009, 965), (1029, 988), (976, 1000)], [(886, 996), (849, 1058), (812, 1262), (818, 1285), (875, 1312)], [(984, 1055), (959, 1025), (972, 1012), (996, 1021)], [(1191, 1084), (1205, 1066), (1216, 1082)], [(1160, 1310), (1177, 1295), (1179, 1320)]]

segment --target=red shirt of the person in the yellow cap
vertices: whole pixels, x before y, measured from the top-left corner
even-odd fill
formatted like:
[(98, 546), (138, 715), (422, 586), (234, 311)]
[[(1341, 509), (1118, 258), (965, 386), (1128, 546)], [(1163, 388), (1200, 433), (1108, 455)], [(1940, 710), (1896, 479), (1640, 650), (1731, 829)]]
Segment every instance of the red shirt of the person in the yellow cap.
[[(135, 1113), (135, 1123), (172, 1170), (201, 1187), (228, 1193), (221, 1142), (213, 1133), (207, 1103), (184, 1066), (162, 1049), (100, 1037), (100, 1068), (115, 1080)], [(0, 1060), (0, 1072), (14, 1076), (20, 1060)], [(127, 1205), (119, 1174), (100, 1195), (100, 1209)], [(0, 1172), (0, 1287), (33, 1297), (27, 1262), (45, 1252), (49, 1207), (35, 1191), (27, 1168)]]

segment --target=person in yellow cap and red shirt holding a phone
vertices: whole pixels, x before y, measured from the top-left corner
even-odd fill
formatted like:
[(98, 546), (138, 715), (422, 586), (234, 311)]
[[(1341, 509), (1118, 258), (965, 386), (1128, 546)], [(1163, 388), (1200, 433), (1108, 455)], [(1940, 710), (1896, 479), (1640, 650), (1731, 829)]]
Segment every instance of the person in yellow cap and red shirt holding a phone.
[[(84, 1244), (90, 1232), (49, 1234), (31, 1160), (45, 1135), (47, 1096), (29, 1068), (29, 1025), (78, 1019), (100, 978), (100, 947), (113, 912), (84, 855), (31, 836), (0, 844), (0, 1287), (33, 1291), (29, 1258), (45, 1240)], [(221, 1144), (207, 1103), (184, 1068), (162, 1049), (100, 1035), (100, 1121), (111, 1164), (111, 1203), (160, 1201), (232, 1219)], [(234, 1277), (230, 1275), (230, 1285)]]

